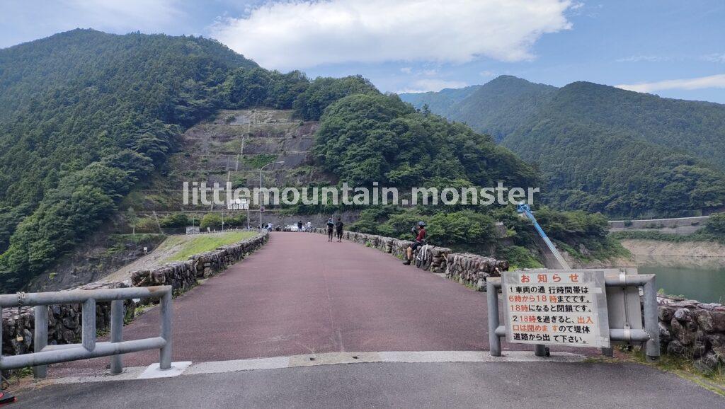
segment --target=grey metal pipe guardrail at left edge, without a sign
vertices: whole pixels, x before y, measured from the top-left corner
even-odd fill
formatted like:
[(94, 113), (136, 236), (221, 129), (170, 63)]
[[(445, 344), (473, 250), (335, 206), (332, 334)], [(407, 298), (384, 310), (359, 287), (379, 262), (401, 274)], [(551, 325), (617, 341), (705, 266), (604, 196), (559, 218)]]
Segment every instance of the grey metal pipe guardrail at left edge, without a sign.
[[(111, 356), (112, 374), (123, 372), (122, 354), (159, 350), (159, 368), (171, 368), (171, 286), (130, 287), (123, 289), (73, 290), (0, 295), (0, 315), (4, 307), (35, 306), (34, 352), (2, 356), (0, 370), (33, 366), (36, 378), (45, 378), (47, 365), (88, 358)], [(126, 299), (159, 298), (161, 333), (155, 338), (123, 341), (123, 302)], [(110, 342), (96, 342), (96, 303), (111, 302)], [(80, 344), (48, 345), (48, 305), (82, 304), (83, 332)], [(91, 317), (92, 319), (86, 319)], [(2, 326), (0, 326), (0, 343)], [(0, 345), (1, 347), (1, 345)]]

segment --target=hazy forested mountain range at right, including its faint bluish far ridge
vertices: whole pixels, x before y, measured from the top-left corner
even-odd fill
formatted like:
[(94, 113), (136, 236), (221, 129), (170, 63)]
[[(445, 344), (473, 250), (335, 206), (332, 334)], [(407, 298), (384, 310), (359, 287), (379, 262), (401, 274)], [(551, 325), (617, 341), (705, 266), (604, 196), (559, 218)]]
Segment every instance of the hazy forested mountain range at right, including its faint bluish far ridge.
[(510, 75), (400, 97), (534, 162), (551, 205), (625, 218), (724, 207), (725, 105), (588, 82), (556, 88)]

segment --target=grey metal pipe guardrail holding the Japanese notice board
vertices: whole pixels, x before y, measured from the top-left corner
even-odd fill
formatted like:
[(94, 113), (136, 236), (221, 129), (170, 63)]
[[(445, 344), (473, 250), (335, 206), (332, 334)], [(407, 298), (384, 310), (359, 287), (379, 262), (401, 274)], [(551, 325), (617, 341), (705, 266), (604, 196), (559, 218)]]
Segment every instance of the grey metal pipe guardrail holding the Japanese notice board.
[[(621, 342), (645, 342), (647, 358), (655, 360), (660, 356), (660, 329), (657, 319), (657, 290), (654, 274), (634, 274), (605, 276), (605, 287), (642, 287), (643, 313), (645, 329), (609, 329), (609, 338)], [(501, 337), (506, 336), (505, 326), (500, 325), (498, 290), (501, 289), (501, 278), (486, 280), (486, 297), (489, 310), (489, 349), (491, 356), (501, 356)], [(534, 354), (546, 355), (544, 345), (535, 345)]]

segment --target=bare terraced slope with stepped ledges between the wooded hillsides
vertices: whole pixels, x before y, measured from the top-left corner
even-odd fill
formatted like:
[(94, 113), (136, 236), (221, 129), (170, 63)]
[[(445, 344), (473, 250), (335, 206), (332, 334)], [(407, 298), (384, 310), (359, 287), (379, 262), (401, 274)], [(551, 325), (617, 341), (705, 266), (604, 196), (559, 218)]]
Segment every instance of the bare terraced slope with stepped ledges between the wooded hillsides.
[[(128, 199), (136, 210), (199, 210), (183, 205), (183, 182), (227, 181), (234, 188), (302, 186), (329, 181), (312, 167), (310, 149), (318, 123), (292, 119), (290, 110), (223, 110), (215, 117), (189, 128), (181, 136), (178, 152), (170, 156), (167, 170), (151, 186)], [(140, 207), (139, 207), (140, 205)]]

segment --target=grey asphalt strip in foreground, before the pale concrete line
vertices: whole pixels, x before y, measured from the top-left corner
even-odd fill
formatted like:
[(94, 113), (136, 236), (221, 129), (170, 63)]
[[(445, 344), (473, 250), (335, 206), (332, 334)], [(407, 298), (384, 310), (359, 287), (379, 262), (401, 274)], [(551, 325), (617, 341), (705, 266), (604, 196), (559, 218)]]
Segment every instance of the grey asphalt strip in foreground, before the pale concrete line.
[(606, 363), (359, 363), (57, 384), (12, 408), (725, 408), (671, 373)]

